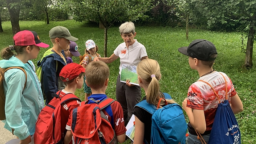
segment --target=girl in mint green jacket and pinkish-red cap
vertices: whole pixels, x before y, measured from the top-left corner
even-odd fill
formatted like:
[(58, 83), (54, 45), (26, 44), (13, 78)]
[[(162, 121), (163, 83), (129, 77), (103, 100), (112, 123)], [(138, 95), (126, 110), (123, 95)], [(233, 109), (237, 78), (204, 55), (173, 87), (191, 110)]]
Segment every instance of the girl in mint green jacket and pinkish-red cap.
[[(20, 139), (20, 144), (31, 142), (35, 132), (35, 123), (44, 107), (44, 98), (40, 82), (35, 73), (31, 59), (35, 59), (40, 47), (47, 48), (48, 44), (40, 41), (34, 31), (23, 30), (13, 37), (14, 45), (2, 49), (0, 67), (3, 80), (4, 98), (1, 110), (5, 114), (4, 128)], [(14, 52), (15, 51), (15, 52)], [(11, 68), (11, 67), (18, 68)], [(7, 68), (11, 68), (7, 70)], [(7, 71), (6, 71), (7, 70)], [(2, 95), (1, 95), (2, 96)]]

